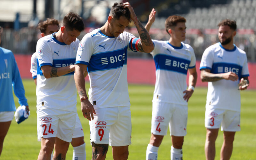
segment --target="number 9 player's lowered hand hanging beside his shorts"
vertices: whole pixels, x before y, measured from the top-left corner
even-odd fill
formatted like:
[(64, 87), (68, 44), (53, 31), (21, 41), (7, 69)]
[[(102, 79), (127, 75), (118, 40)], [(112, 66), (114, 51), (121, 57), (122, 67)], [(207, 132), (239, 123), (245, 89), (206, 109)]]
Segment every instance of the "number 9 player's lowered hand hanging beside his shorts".
[(96, 114), (92, 103), (88, 99), (81, 101), (81, 109), (84, 118), (87, 118), (89, 121), (93, 119), (93, 114)]

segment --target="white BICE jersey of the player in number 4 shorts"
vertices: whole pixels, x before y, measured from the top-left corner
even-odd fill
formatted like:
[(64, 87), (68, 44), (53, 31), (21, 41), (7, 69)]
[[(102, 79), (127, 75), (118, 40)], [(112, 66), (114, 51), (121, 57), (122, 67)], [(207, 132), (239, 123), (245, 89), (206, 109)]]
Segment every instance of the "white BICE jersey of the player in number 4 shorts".
[(183, 99), (187, 89), (187, 72), (195, 68), (196, 56), (193, 48), (181, 43), (175, 47), (168, 41), (152, 40), (155, 49), (151, 52), (156, 65), (156, 85), (153, 102), (188, 105)]

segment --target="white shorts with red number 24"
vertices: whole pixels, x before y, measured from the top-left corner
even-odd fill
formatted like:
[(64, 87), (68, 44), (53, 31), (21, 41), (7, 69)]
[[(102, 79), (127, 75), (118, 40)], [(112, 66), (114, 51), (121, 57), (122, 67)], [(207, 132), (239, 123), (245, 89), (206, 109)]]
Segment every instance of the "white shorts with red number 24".
[(71, 142), (77, 112), (45, 108), (38, 109), (36, 113), (38, 141), (41, 141), (42, 137), (58, 137), (66, 142)]

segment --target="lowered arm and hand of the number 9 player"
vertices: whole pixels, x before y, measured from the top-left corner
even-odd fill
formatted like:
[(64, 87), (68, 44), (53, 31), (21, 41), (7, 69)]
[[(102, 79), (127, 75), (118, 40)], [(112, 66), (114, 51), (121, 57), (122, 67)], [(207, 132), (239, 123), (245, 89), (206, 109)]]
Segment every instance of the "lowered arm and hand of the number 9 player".
[(86, 94), (85, 90), (85, 81), (84, 81), (84, 75), (87, 68), (87, 65), (85, 64), (76, 64), (75, 68), (75, 83), (76, 83), (76, 89), (80, 97), (81, 101), (81, 109), (83, 112), (84, 118), (87, 118), (89, 121), (91, 121), (91, 117), (93, 119), (93, 113), (96, 114), (91, 102), (88, 100), (88, 96)]

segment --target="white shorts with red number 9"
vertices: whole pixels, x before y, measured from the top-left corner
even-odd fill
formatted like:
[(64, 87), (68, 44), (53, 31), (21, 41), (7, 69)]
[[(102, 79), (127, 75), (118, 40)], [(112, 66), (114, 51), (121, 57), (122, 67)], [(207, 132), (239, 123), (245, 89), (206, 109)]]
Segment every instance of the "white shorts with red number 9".
[(130, 145), (132, 122), (130, 106), (95, 109), (94, 119), (89, 121), (91, 143), (110, 146)]

